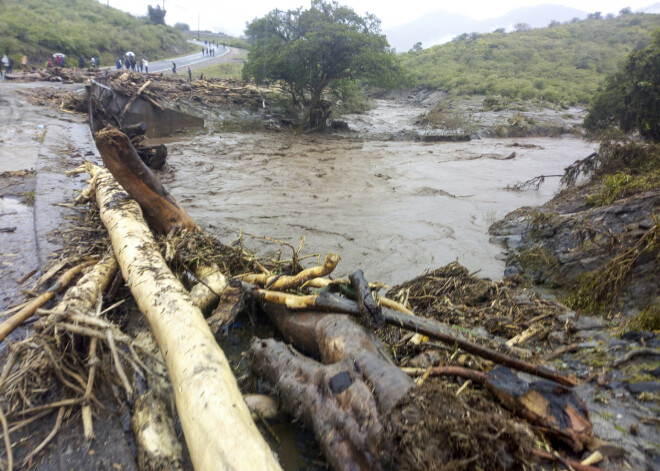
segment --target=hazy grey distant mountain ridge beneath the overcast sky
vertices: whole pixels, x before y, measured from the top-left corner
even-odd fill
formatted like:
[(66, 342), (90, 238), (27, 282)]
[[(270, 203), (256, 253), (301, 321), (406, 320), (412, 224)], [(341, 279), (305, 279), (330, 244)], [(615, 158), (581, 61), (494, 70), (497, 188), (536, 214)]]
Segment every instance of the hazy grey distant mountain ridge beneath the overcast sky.
[[(652, 7), (650, 7), (652, 8)], [(510, 11), (499, 18), (478, 21), (466, 15), (437, 10), (405, 25), (384, 30), (390, 45), (398, 52), (407, 52), (417, 42), (424, 48), (447, 42), (463, 33), (487, 33), (497, 28), (511, 30), (517, 23), (532, 28), (548, 26), (555, 21), (586, 18), (587, 13), (561, 5), (538, 5)]]

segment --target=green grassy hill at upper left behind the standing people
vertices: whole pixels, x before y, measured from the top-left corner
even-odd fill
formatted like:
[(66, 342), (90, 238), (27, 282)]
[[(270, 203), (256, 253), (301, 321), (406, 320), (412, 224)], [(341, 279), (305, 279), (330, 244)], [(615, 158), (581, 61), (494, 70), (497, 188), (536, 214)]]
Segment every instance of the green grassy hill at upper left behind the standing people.
[(0, 54), (9, 53), (16, 65), (23, 54), (38, 66), (55, 52), (66, 54), (75, 65), (79, 55), (88, 64), (95, 56), (101, 65), (112, 65), (129, 50), (138, 58), (156, 60), (192, 49), (178, 29), (150, 24), (146, 17), (95, 0), (0, 1)]

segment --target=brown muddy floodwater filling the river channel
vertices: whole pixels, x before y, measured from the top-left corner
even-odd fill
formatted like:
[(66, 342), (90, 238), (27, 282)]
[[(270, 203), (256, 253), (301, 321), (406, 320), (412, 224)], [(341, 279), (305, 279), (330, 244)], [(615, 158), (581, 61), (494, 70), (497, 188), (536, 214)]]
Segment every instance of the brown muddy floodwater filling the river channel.
[[(401, 111), (408, 122), (418, 114)], [(372, 117), (359, 117), (357, 131), (343, 136), (210, 132), (172, 139), (161, 178), (203, 227), (224, 242), (242, 231), (245, 245), (262, 254), (281, 247), (250, 236), (294, 246), (305, 237), (304, 254), (341, 254), (337, 274), (362, 268), (388, 284), (456, 259), (499, 279), (501, 248), (489, 242), (488, 227), (549, 200), (559, 178), (538, 191), (506, 186), (561, 174), (596, 147), (575, 137), (384, 140), (392, 120), (378, 109)], [(283, 248), (283, 258), (290, 254)]]

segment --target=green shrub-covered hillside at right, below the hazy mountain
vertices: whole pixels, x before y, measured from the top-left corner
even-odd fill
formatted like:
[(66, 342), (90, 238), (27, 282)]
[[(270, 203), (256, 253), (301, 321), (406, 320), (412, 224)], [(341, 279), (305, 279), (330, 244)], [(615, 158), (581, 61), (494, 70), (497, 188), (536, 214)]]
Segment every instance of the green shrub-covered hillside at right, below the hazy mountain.
[[(512, 33), (464, 34), (402, 55), (413, 84), (452, 95), (585, 104), (626, 55), (651, 41), (660, 15), (627, 14)], [(491, 100), (497, 102), (498, 100)]]

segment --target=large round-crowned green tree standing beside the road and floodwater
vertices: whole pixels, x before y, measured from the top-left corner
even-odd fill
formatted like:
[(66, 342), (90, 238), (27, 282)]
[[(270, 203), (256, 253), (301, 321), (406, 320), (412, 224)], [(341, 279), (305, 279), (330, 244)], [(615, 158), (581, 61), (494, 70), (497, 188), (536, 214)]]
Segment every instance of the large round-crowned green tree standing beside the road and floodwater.
[(392, 86), (400, 77), (394, 51), (373, 15), (361, 17), (335, 1), (312, 0), (308, 10), (273, 10), (246, 29), (252, 44), (243, 77), (281, 81), (303, 109), (300, 129), (325, 125), (323, 93), (338, 81)]

